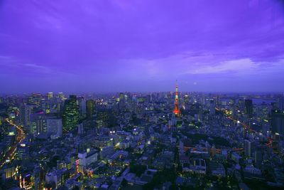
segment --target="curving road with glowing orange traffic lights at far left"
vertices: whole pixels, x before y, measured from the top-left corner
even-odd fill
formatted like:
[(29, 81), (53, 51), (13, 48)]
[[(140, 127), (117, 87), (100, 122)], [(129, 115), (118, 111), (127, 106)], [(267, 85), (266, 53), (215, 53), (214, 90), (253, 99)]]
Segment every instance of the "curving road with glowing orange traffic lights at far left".
[(10, 125), (13, 125), (14, 127), (16, 127), (17, 137), (16, 137), (16, 142), (13, 143), (9, 152), (6, 152), (5, 157), (0, 159), (0, 169), (4, 166), (4, 164), (6, 163), (6, 160), (12, 160), (13, 159), (13, 157), (15, 156), (18, 144), (21, 144), (21, 142), (23, 142), (23, 139), (25, 139), (25, 137), (26, 137), (25, 132), (23, 132), (23, 129), (22, 129), (23, 127), (21, 125), (14, 124), (8, 118), (6, 118), (6, 122), (9, 122)]

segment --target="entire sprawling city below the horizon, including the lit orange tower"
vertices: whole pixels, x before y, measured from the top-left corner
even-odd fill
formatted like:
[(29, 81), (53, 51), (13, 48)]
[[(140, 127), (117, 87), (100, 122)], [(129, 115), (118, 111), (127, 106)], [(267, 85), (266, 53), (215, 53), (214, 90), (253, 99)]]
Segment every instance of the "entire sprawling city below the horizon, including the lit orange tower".
[(0, 97), (0, 189), (283, 189), (284, 96)]

